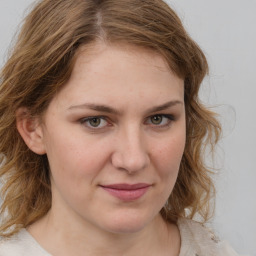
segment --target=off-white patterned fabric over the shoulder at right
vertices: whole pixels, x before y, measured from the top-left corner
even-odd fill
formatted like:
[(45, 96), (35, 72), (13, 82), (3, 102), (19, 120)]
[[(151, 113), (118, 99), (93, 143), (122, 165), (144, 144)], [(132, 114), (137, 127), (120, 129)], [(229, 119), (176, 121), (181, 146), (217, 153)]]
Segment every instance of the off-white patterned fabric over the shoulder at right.
[(180, 256), (239, 256), (226, 242), (221, 242), (199, 222), (179, 219), (178, 227), (181, 235)]

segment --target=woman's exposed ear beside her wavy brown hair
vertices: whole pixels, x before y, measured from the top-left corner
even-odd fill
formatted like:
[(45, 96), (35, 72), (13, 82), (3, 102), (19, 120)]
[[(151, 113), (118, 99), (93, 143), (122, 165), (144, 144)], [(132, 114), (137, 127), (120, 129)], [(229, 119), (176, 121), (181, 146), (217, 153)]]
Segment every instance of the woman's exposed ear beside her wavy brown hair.
[(32, 117), (27, 108), (19, 108), (16, 111), (16, 126), (30, 150), (38, 155), (46, 153), (39, 118)]

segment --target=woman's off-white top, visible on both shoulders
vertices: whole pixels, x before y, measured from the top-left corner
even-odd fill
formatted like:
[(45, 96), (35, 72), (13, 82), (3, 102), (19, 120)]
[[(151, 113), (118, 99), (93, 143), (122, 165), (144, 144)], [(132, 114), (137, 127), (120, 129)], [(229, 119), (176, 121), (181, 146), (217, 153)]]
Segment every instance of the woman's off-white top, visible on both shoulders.
[[(181, 234), (179, 256), (239, 256), (227, 243), (220, 242), (203, 225), (187, 219), (180, 219)], [(0, 241), (0, 256), (51, 256), (38, 242), (22, 229), (11, 238)]]

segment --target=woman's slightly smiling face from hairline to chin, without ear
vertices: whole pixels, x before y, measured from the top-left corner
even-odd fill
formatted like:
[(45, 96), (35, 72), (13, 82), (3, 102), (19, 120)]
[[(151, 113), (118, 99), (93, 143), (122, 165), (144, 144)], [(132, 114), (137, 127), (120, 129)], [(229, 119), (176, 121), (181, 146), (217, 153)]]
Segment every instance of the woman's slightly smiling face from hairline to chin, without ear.
[(159, 216), (185, 145), (183, 80), (131, 46), (82, 51), (42, 124), (51, 212), (115, 233)]

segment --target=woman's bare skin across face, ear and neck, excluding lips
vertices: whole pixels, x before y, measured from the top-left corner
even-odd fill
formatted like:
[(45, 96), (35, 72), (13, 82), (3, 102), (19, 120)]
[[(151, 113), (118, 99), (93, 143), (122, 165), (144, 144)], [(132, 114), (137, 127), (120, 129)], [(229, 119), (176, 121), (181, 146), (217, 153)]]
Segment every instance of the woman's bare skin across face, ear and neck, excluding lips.
[[(178, 255), (179, 231), (159, 211), (184, 151), (184, 88), (160, 55), (127, 45), (81, 48), (42, 120), (22, 119), (18, 130), (50, 164), (52, 208), (28, 228), (46, 250)], [(148, 188), (122, 200), (102, 187), (120, 183)]]

